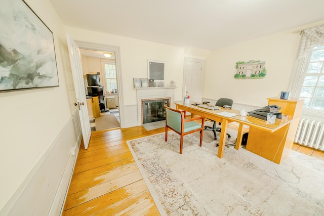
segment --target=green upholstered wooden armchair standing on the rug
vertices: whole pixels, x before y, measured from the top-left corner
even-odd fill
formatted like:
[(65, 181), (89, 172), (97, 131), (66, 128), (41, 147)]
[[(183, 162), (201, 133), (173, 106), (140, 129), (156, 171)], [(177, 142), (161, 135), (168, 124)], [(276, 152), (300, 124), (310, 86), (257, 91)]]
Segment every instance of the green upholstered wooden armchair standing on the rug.
[[(180, 135), (180, 154), (182, 154), (183, 136), (200, 131), (200, 143), (203, 145), (205, 117), (185, 118), (185, 111), (166, 108), (166, 141), (168, 141), (168, 128)], [(201, 120), (201, 123), (196, 121)]]

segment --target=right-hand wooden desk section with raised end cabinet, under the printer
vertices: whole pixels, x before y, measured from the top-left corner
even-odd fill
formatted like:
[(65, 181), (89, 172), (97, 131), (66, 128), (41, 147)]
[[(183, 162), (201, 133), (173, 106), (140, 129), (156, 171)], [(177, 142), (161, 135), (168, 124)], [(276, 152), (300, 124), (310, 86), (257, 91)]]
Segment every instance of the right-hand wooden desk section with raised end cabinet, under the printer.
[(249, 125), (249, 137), (247, 150), (272, 162), (280, 164), (285, 160), (293, 147), (304, 99), (291, 98), (282, 100), (267, 98), (268, 105), (278, 105), (282, 114), (288, 115), (287, 121), (276, 119), (274, 124), (266, 124), (265, 121), (251, 116), (234, 116), (230, 120), (239, 122), (237, 142), (235, 149), (239, 149), (242, 140), (243, 125)]

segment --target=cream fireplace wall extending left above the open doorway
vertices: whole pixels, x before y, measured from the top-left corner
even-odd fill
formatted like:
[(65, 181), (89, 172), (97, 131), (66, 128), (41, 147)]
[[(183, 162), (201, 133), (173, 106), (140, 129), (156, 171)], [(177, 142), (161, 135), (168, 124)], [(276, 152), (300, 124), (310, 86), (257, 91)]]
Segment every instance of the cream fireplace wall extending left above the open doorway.
[[(73, 27), (66, 27), (66, 31), (74, 40), (120, 47), (125, 106), (136, 104), (133, 78), (147, 77), (148, 59), (166, 62), (166, 82), (176, 81), (178, 88), (175, 90), (175, 100), (181, 100), (184, 56), (197, 55), (196, 57), (205, 58), (209, 53), (206, 50), (184, 49)], [(185, 53), (185, 50), (188, 51)], [(195, 53), (195, 51), (197, 52)]]

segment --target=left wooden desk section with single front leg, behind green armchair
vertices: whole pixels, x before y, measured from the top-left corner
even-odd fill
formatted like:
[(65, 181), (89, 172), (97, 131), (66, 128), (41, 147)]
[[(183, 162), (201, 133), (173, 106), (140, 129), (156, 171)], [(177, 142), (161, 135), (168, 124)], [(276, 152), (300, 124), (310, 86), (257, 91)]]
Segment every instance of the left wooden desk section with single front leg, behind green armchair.
[[(175, 103), (177, 110), (185, 110), (191, 113), (191, 116), (193, 115), (199, 115), (204, 116), (205, 118), (209, 118), (214, 121), (218, 121), (222, 123), (222, 129), (221, 129), (221, 136), (219, 140), (219, 146), (218, 146), (218, 153), (217, 156), (219, 158), (223, 157), (224, 154), (224, 148), (225, 148), (225, 142), (226, 142), (226, 134), (227, 134), (227, 126), (229, 122), (232, 122), (233, 120), (230, 119), (230, 117), (225, 117), (220, 115), (221, 112), (230, 112), (234, 114), (239, 114), (239, 110), (233, 110), (233, 109), (224, 109), (221, 108), (219, 110), (209, 110), (206, 108), (200, 108), (191, 104), (198, 103), (198, 102), (191, 102), (190, 104), (184, 104), (184, 103)], [(198, 103), (201, 104), (201, 103)]]

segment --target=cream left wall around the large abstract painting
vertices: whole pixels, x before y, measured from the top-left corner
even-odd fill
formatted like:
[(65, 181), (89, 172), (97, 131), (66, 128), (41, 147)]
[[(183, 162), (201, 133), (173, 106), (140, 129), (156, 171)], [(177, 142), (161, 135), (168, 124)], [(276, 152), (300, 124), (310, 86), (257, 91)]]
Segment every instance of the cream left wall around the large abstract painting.
[[(51, 161), (50, 166), (45, 169), (47, 172), (43, 172), (43, 181), (37, 180), (39, 188), (35, 188), (34, 194), (26, 198), (30, 202), (34, 201), (39, 190), (45, 187), (49, 194), (47, 199), (53, 200), (70, 155), (70, 148), (75, 147), (80, 139), (80, 128), (77, 125), (70, 131), (73, 133), (70, 134), (72, 140), (57, 142), (59, 136), (65, 134), (62, 130), (67, 128), (67, 124), (75, 123), (72, 116), (77, 112), (73, 106), (75, 93), (63, 25), (48, 0), (26, 2), (54, 34), (60, 86), (0, 93), (0, 209), (7, 204), (6, 210), (21, 207), (15, 206), (15, 201), (23, 193), (19, 190), (25, 189), (23, 186), (31, 181), (30, 174), (37, 172), (37, 167), (42, 166), (42, 161), (46, 160), (47, 154), (50, 153), (57, 155), (54, 159), (61, 165), (57, 166), (55, 161)], [(57, 149), (56, 145), (61, 145), (62, 149), (54, 150)], [(47, 182), (48, 175), (53, 175), (51, 184)], [(51, 203), (45, 203), (45, 199), (43, 202), (34, 203), (33, 206), (45, 205), (44, 208), (48, 210)], [(0, 214), (2, 213), (3, 211), (0, 211)], [(29, 214), (27, 209), (25, 214)]]

